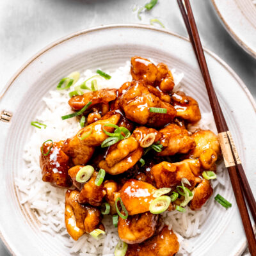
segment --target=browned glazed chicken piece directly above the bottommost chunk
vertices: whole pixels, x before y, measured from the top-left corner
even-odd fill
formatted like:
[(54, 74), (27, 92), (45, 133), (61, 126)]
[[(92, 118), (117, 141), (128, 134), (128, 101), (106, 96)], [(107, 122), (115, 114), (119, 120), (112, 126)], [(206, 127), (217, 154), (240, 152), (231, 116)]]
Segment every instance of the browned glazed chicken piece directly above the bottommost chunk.
[(142, 243), (154, 235), (158, 218), (151, 212), (128, 216), (126, 220), (118, 218), (118, 236), (127, 244)]

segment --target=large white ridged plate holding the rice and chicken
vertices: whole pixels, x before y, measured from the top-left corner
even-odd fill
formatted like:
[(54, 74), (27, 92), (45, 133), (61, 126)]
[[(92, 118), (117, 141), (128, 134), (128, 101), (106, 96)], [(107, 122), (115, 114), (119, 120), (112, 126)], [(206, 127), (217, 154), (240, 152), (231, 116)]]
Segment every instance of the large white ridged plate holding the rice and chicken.
[[(209, 51), (205, 54), (252, 191), (256, 191), (255, 103), (246, 86), (227, 64)], [(13, 255), (69, 255), (58, 236), (51, 237), (40, 231), (40, 223), (33, 211), (28, 205), (20, 205), (20, 192), (15, 188), (14, 178), (25, 167), (23, 147), (33, 132), (30, 121), (44, 108), (42, 97), (56, 88), (60, 77), (73, 70), (100, 66), (111, 71), (134, 55), (163, 61), (170, 68), (184, 72), (183, 83), (189, 95), (198, 100), (202, 111), (210, 111), (191, 44), (163, 29), (139, 25), (103, 26), (62, 38), (36, 54), (6, 85), (8, 90), (0, 102), (0, 111), (5, 109), (13, 113), (10, 123), (0, 122), (0, 234)], [(226, 211), (211, 198), (209, 216), (202, 232), (192, 239), (195, 244), (193, 256), (240, 255), (246, 246), (227, 172), (225, 179), (227, 184), (219, 188), (218, 193), (228, 198), (233, 206)]]

